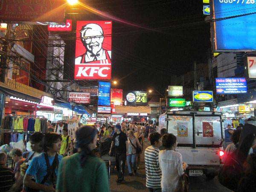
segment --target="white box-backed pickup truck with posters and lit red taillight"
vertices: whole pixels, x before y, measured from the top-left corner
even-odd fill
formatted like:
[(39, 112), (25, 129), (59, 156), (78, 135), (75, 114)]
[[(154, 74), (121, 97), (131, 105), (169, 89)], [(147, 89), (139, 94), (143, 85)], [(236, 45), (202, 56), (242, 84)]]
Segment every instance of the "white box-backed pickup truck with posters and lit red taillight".
[(188, 164), (189, 176), (213, 179), (223, 166), (221, 157), (224, 130), (222, 113), (208, 111), (167, 111), (159, 117), (159, 132), (167, 128), (177, 137), (176, 150)]

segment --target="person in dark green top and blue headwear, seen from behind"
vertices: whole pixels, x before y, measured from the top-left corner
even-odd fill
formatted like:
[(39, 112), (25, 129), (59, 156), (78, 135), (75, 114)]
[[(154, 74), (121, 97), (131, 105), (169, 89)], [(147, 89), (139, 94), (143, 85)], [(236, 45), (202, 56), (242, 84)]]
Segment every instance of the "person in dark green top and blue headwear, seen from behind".
[(85, 125), (76, 131), (79, 153), (64, 157), (58, 169), (57, 192), (110, 192), (106, 164), (93, 154), (97, 129)]

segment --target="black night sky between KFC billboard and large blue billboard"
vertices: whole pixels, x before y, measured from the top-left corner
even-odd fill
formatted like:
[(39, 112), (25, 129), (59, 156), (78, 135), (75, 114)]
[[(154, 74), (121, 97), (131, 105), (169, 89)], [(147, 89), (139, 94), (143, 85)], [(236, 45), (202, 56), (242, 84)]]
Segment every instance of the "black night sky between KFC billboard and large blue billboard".
[[(84, 3), (113, 20), (112, 78), (123, 78), (125, 90), (168, 87), (170, 77), (192, 70), (193, 61), (207, 62), (210, 26), (204, 22), (203, 0), (90, 0)], [(91, 13), (83, 20), (111, 20)], [(145, 29), (146, 28), (146, 29)], [(126, 76), (126, 77), (125, 77)]]

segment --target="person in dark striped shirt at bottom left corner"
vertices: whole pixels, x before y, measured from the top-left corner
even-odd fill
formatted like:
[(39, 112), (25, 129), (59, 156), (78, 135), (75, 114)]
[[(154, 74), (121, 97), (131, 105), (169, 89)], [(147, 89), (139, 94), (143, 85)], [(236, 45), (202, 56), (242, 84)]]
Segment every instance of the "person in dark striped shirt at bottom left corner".
[(6, 167), (7, 155), (0, 152), (0, 191), (7, 192), (15, 183), (15, 177), (12, 169)]

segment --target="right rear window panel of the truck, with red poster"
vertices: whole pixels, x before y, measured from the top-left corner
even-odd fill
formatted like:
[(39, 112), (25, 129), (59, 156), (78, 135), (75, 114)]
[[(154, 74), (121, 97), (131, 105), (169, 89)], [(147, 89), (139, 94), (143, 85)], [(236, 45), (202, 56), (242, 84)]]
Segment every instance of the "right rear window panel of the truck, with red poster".
[(219, 145), (221, 122), (219, 116), (195, 116), (196, 145)]

